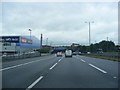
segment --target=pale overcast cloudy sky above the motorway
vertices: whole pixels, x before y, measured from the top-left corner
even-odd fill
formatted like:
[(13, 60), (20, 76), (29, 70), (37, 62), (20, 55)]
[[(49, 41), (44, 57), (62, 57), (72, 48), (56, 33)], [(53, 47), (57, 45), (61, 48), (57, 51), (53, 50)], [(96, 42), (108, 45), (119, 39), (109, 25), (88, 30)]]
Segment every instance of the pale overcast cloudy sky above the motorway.
[(49, 45), (89, 44), (111, 40), (118, 44), (117, 2), (3, 2), (0, 35), (48, 38)]

